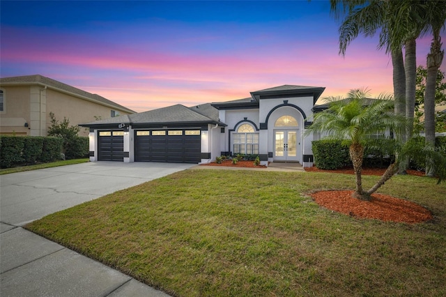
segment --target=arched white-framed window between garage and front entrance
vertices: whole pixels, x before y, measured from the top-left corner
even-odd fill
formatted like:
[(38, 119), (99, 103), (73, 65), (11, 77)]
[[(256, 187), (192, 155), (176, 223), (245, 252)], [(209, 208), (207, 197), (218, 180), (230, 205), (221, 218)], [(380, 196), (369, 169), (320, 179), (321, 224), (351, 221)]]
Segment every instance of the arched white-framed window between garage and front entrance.
[(233, 154), (255, 155), (259, 153), (259, 133), (247, 123), (238, 126), (233, 133)]

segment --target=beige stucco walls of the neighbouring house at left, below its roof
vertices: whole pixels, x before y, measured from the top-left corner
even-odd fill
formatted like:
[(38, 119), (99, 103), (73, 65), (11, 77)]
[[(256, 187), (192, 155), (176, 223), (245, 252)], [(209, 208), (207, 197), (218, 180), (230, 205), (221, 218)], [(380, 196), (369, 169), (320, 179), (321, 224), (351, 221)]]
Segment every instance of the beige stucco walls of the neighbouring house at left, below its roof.
[[(93, 122), (95, 116), (108, 119), (112, 110), (120, 115), (128, 114), (44, 86), (0, 86), (0, 89), (3, 90), (5, 109), (0, 113), (0, 133), (3, 135), (46, 136), (51, 125), (50, 112), (58, 121), (66, 117), (70, 125)], [(89, 130), (81, 128), (79, 136), (89, 136)]]

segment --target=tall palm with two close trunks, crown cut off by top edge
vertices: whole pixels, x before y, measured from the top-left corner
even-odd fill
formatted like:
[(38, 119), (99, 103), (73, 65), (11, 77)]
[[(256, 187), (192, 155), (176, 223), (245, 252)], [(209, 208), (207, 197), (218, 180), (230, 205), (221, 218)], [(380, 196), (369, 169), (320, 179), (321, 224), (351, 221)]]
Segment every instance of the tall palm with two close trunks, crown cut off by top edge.
[[(415, 114), (416, 39), (426, 30), (424, 6), (413, 1), (363, 1), (352, 3), (332, 0), (332, 10), (347, 6), (349, 13), (339, 28), (339, 53), (345, 55), (346, 47), (360, 33), (373, 36), (380, 29), (378, 48), (385, 47), (392, 56), (395, 113), (405, 114), (413, 123)], [(345, 11), (345, 10), (344, 10)], [(405, 48), (403, 61), (402, 47)], [(413, 125), (397, 138), (410, 139)], [(401, 162), (399, 172), (404, 173), (408, 162)]]

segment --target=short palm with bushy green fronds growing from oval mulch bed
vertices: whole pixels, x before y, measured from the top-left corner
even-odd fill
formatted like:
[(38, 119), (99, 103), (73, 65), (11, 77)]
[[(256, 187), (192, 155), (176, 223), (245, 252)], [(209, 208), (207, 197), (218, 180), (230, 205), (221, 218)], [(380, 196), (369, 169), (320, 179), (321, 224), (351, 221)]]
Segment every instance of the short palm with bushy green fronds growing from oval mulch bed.
[(330, 108), (314, 116), (314, 122), (305, 133), (324, 133), (328, 138), (341, 139), (348, 143), (350, 158), (356, 178), (356, 190), (353, 197), (370, 200), (381, 185), (397, 172), (397, 163), (387, 168), (380, 181), (370, 190), (362, 188), (362, 161), (364, 148), (371, 145), (371, 135), (395, 132), (406, 129), (404, 116), (394, 114), (392, 96), (381, 94), (377, 99), (369, 99), (369, 91), (355, 89), (346, 98), (329, 97)]

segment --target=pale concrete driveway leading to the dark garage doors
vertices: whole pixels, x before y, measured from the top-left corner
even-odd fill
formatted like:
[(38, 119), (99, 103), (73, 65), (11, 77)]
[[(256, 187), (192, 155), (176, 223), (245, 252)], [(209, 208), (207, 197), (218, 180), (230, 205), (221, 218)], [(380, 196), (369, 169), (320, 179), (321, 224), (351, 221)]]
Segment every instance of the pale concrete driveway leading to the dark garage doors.
[(23, 226), (50, 213), (193, 166), (155, 162), (86, 162), (2, 175), (0, 220)]

